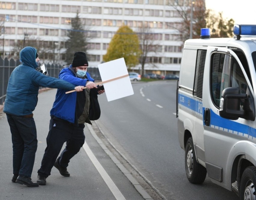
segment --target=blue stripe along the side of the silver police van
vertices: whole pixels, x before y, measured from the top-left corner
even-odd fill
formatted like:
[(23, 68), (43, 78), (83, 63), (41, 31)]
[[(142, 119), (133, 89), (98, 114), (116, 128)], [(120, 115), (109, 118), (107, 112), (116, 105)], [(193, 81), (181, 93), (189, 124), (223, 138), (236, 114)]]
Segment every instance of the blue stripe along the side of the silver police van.
[[(191, 109), (192, 111), (198, 114), (203, 115), (203, 112), (205, 110), (205, 108), (202, 108), (202, 100), (197, 100), (197, 98), (193, 98), (188, 95), (183, 95), (181, 93), (178, 94), (178, 103), (188, 109)], [(212, 128), (220, 129), (225, 132), (230, 132), (237, 135), (242, 135), (244, 137), (250, 136), (249, 138), (256, 139), (256, 129), (245, 124), (241, 124), (232, 120), (222, 118), (219, 115), (215, 114), (212, 111), (212, 109), (210, 123), (210, 126)]]

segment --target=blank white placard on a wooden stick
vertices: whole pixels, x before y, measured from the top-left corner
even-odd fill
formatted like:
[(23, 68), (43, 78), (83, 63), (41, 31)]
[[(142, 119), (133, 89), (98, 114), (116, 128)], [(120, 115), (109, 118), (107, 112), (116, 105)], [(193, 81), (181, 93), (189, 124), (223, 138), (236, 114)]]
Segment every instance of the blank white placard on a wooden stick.
[[(102, 82), (128, 74), (124, 58), (99, 64), (98, 68)], [(134, 94), (129, 76), (104, 83), (103, 85), (108, 102)]]

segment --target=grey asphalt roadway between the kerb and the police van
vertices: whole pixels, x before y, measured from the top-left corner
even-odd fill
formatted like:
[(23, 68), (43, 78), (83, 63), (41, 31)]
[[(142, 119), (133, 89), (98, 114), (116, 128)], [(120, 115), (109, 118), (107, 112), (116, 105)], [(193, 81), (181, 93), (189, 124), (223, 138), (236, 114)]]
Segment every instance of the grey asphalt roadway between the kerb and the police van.
[(134, 95), (111, 102), (99, 96), (96, 123), (152, 188), (168, 200), (238, 199), (208, 177), (201, 185), (188, 182), (177, 135), (176, 81), (138, 82), (133, 90)]

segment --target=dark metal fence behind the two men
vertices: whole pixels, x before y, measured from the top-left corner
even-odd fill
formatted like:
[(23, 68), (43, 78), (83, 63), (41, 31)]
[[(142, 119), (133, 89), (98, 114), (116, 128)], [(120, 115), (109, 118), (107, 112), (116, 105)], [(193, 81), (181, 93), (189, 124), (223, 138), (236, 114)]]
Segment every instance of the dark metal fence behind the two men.
[[(39, 66), (42, 63), (39, 63)], [(62, 65), (59, 64), (46, 64), (44, 63), (49, 76), (58, 78), (59, 72), (63, 68)], [(9, 77), (14, 70), (15, 67), (20, 65), (20, 60), (14, 60), (10, 59), (8, 60), (7, 58), (2, 59), (0, 57), (0, 105), (3, 105), (5, 102), (5, 97), (6, 97), (6, 90), (7, 90), (7, 85), (8, 85), (8, 80)], [(99, 74), (99, 69), (98, 68), (88, 68), (88, 72), (90, 73), (91, 77), (93, 77), (95, 80), (100, 80), (100, 74)]]

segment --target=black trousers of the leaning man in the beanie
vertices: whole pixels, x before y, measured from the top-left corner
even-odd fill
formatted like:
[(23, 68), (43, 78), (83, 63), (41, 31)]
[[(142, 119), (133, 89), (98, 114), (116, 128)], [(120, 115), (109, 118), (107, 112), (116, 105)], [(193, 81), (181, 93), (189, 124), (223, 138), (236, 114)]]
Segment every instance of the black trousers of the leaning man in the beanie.
[(48, 177), (63, 144), (66, 148), (59, 156), (59, 165), (67, 168), (70, 159), (75, 156), (84, 144), (84, 124), (74, 126), (67, 121), (50, 120), (50, 130), (46, 138), (47, 147), (41, 162), (38, 175)]

